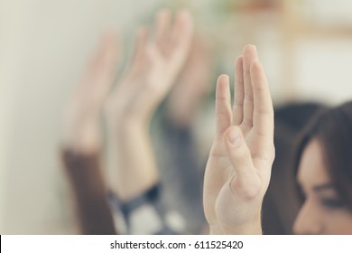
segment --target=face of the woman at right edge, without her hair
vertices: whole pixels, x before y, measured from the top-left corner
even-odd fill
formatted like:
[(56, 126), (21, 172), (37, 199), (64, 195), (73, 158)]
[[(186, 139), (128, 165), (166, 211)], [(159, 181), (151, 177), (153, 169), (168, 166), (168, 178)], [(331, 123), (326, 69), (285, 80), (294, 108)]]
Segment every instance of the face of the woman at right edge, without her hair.
[(293, 230), (297, 234), (352, 234), (352, 213), (338, 203), (319, 140), (305, 147), (297, 175), (305, 201)]

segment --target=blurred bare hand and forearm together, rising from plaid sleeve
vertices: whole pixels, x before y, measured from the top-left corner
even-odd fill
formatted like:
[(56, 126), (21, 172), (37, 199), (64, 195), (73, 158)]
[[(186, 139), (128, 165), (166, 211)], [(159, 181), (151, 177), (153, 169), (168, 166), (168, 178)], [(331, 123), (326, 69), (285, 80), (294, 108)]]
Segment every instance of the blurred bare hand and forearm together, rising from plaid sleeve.
[(122, 201), (159, 181), (149, 124), (187, 60), (193, 22), (189, 12), (180, 11), (171, 23), (171, 12), (162, 10), (154, 30), (151, 40), (146, 28), (139, 31), (134, 59), (106, 104), (110, 146), (117, 155), (111, 185)]

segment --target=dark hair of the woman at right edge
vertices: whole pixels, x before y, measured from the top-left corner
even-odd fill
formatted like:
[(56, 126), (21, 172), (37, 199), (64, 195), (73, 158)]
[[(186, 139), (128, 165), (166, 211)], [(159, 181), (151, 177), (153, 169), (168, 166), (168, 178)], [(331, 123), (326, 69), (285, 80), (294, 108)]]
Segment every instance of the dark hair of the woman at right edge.
[(295, 176), (303, 150), (312, 139), (320, 142), (331, 183), (341, 201), (352, 211), (352, 101), (323, 109), (305, 127), (295, 153)]

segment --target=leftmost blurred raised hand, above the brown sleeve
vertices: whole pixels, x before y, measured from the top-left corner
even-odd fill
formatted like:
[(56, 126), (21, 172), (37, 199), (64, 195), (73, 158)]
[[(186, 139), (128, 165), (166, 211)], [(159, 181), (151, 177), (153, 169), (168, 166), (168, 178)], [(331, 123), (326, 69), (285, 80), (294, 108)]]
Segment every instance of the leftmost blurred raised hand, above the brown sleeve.
[(73, 151), (91, 154), (101, 147), (99, 114), (116, 78), (118, 56), (116, 35), (107, 33), (64, 111), (64, 145)]

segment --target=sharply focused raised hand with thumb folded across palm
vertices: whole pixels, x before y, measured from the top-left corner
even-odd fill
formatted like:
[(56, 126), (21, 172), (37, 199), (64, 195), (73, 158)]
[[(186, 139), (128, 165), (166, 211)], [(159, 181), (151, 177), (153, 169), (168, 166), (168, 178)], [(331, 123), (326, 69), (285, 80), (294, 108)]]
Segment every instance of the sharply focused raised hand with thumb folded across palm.
[(235, 101), (218, 78), (217, 133), (204, 179), (204, 209), (213, 234), (260, 234), (261, 207), (274, 159), (273, 102), (255, 46), (235, 63)]

